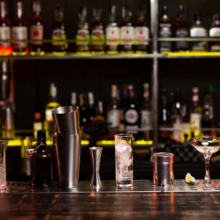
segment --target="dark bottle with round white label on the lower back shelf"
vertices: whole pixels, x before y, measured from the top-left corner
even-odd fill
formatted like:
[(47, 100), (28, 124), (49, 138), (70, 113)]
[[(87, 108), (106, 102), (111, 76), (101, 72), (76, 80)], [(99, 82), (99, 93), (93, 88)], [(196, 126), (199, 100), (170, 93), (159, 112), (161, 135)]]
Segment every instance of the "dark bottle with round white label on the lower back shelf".
[(128, 86), (129, 99), (124, 112), (126, 130), (129, 133), (137, 134), (140, 120), (139, 110), (135, 101), (133, 85)]

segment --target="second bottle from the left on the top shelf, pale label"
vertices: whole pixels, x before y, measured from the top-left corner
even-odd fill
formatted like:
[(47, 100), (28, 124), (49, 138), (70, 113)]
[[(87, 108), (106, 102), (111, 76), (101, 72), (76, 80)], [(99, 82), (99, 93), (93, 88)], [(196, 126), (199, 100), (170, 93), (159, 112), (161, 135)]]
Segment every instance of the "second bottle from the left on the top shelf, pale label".
[(28, 53), (28, 29), (27, 21), (22, 18), (23, 5), (17, 2), (16, 20), (12, 27), (13, 55), (25, 55)]

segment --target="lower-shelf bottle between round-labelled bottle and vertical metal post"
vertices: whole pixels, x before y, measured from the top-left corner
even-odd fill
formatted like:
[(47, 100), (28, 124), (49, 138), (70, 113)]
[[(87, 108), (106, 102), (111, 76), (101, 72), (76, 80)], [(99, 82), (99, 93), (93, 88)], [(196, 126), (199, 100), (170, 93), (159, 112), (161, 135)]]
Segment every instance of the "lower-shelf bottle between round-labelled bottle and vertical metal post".
[(144, 83), (144, 94), (141, 104), (141, 128), (146, 129), (153, 128), (149, 87), (148, 83)]

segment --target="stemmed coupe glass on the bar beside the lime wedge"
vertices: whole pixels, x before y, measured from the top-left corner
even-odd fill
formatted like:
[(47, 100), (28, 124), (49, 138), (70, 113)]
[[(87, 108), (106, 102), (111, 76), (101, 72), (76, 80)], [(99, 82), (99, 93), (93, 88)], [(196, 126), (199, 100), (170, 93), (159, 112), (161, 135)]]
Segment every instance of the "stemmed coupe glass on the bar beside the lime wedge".
[(210, 180), (209, 162), (212, 154), (220, 149), (220, 138), (211, 136), (195, 137), (192, 141), (192, 146), (205, 157), (205, 179), (196, 184), (197, 187), (204, 189), (213, 189), (218, 187), (218, 183)]

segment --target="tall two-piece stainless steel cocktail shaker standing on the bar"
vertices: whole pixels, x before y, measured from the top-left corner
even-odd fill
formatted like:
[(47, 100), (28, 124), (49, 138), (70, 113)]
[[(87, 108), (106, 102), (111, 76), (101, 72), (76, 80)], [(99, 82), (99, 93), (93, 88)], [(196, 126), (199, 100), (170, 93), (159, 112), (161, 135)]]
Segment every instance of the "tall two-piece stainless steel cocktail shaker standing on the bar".
[(77, 185), (80, 168), (79, 108), (58, 107), (52, 110), (56, 132), (53, 134), (56, 151), (58, 183), (62, 188)]

